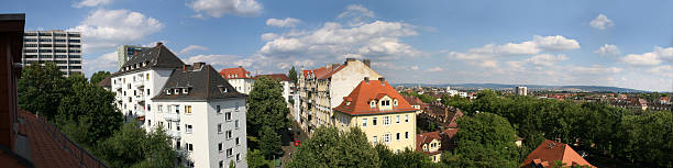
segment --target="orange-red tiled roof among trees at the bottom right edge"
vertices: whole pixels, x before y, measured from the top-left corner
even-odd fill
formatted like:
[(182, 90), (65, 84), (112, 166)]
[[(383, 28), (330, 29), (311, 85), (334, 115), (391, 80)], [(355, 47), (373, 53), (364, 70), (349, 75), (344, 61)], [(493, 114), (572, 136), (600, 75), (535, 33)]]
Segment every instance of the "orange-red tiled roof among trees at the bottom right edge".
[(567, 144), (544, 139), (542, 144), (536, 148), (528, 158), (523, 160), (521, 167), (533, 167), (533, 165), (550, 166), (554, 160), (561, 160), (566, 166), (589, 166), (595, 167), (586, 161)]

